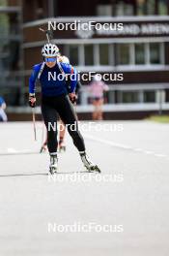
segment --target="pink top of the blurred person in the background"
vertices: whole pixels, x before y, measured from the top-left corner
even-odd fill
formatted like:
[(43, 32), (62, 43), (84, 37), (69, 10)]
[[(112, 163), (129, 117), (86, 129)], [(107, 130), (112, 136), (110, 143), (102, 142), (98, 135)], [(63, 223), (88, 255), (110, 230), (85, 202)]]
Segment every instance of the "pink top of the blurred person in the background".
[(108, 85), (102, 80), (95, 80), (89, 84), (89, 91), (91, 92), (92, 97), (102, 98), (103, 91), (107, 91), (108, 89)]

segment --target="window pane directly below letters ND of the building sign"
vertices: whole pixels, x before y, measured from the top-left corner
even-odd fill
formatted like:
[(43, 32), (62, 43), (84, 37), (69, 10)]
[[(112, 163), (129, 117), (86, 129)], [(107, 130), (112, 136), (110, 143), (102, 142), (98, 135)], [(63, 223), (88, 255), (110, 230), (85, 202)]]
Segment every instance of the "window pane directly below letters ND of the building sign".
[(129, 64), (129, 44), (117, 45), (117, 65)]

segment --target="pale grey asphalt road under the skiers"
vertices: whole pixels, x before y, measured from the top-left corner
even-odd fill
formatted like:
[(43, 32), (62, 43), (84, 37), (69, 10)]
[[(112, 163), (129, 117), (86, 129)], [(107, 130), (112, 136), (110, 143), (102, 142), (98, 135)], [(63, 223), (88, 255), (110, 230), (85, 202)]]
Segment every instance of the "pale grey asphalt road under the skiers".
[(38, 142), (32, 123), (0, 125), (0, 255), (168, 256), (169, 125), (82, 124), (102, 173), (85, 173), (67, 135), (55, 179), (41, 123)]

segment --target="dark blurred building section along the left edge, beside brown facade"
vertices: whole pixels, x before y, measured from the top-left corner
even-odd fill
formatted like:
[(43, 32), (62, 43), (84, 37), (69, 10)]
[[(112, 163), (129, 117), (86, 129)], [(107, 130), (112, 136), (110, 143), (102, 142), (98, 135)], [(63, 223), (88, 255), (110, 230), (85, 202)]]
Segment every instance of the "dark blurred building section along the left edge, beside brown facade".
[(23, 86), (21, 16), (20, 1), (0, 1), (0, 94), (12, 106), (20, 105)]

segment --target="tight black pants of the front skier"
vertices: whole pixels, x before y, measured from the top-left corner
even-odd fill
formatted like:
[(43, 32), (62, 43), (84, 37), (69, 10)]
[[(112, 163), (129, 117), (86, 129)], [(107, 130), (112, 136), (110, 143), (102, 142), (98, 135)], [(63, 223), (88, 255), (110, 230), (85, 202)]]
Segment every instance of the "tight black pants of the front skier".
[(78, 130), (77, 118), (68, 95), (55, 97), (42, 96), (42, 117), (47, 129), (47, 147), (49, 153), (57, 151), (57, 113), (67, 126), (73, 144), (78, 151), (85, 151), (84, 140)]

